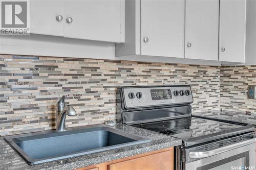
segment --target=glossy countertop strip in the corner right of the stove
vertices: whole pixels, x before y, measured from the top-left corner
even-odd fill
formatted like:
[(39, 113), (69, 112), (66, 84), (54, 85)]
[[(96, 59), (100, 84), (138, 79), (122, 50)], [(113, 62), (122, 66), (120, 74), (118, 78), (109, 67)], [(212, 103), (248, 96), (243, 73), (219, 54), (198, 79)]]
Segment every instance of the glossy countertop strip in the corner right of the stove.
[(195, 112), (195, 113), (192, 113), (192, 115), (227, 120), (227, 121), (237, 122), (237, 123), (252, 124), (256, 128), (256, 114), (253, 114), (253, 113), (214, 110), (214, 111), (207, 111), (207, 112)]

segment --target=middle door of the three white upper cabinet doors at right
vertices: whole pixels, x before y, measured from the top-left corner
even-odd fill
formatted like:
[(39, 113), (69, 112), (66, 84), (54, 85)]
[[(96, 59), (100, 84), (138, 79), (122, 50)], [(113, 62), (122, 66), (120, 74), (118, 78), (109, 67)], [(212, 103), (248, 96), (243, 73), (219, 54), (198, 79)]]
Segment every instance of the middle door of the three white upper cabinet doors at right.
[(218, 60), (218, 37), (219, 0), (186, 0), (185, 58)]

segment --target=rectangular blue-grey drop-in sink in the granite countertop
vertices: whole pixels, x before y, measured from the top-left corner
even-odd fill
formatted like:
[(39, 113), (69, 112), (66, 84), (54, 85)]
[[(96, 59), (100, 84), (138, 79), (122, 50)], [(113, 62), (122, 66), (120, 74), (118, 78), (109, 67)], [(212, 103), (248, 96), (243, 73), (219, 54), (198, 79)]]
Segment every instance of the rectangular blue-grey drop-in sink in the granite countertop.
[(29, 164), (86, 155), (149, 141), (114, 128), (97, 126), (65, 132), (38, 132), (7, 136), (5, 140)]

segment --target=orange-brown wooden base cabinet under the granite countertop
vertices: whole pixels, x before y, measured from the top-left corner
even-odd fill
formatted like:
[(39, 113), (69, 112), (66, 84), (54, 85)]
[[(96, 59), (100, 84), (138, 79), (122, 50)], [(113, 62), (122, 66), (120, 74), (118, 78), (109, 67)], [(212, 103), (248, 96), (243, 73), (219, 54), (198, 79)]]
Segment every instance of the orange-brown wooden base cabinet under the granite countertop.
[(76, 170), (173, 170), (174, 151), (167, 148)]

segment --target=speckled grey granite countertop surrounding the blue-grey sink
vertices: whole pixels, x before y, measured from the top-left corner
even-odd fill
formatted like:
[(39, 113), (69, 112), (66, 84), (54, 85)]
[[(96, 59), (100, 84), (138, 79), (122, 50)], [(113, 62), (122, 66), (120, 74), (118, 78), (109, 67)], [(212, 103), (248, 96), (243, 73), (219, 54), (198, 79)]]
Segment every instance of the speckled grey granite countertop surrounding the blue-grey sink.
[(123, 130), (128, 133), (143, 136), (151, 139), (150, 142), (135, 144), (128, 147), (112, 149), (108, 151), (93, 153), (89, 155), (82, 155), (58, 161), (46, 162), (37, 165), (29, 165), (20, 157), (4, 140), (0, 137), (0, 169), (77, 169), (94, 165), (102, 162), (108, 162), (116, 159), (139, 155), (151, 151), (161, 150), (164, 148), (175, 147), (181, 145), (181, 140), (162, 135), (157, 132), (148, 131), (145, 129), (135, 128), (127, 125), (117, 124), (113, 127), (118, 130)]

